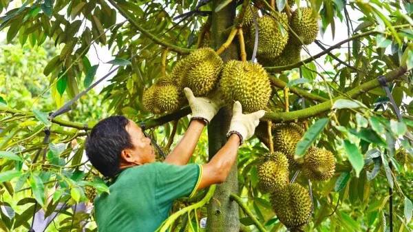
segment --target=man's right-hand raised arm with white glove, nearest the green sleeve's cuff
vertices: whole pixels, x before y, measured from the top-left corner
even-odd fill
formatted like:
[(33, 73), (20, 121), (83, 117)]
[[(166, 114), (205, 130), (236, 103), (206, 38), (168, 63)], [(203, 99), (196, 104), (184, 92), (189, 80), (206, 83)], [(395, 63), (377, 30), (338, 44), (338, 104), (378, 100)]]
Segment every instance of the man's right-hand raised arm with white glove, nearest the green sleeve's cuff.
[(202, 176), (198, 189), (209, 187), (211, 184), (220, 184), (226, 180), (231, 171), (240, 144), (253, 136), (255, 127), (264, 116), (264, 110), (251, 114), (242, 114), (240, 102), (235, 102), (233, 107), (233, 118), (229, 127), (228, 136), (224, 147), (205, 165), (202, 165)]

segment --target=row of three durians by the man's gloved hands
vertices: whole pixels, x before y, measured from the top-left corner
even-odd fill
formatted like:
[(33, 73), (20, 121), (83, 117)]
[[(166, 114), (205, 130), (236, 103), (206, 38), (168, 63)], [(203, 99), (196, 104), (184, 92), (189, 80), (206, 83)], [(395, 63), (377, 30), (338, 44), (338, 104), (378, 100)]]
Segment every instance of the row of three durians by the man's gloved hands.
[(218, 89), (229, 105), (240, 101), (244, 112), (265, 109), (271, 96), (268, 74), (258, 63), (222, 59), (211, 48), (199, 48), (176, 63), (169, 77), (145, 90), (142, 104), (153, 114), (173, 112), (184, 103), (184, 87), (195, 96)]

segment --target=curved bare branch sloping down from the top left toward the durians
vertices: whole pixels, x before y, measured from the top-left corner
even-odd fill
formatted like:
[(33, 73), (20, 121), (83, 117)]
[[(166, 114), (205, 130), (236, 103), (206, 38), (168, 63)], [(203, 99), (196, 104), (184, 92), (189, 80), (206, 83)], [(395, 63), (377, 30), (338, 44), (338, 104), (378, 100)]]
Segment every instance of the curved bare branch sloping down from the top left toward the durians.
[(142, 34), (145, 34), (149, 39), (151, 39), (153, 42), (157, 43), (158, 45), (161, 45), (165, 48), (169, 48), (169, 50), (172, 50), (172, 51), (177, 52), (179, 54), (189, 54), (189, 52), (192, 51), (189, 48), (181, 48), (177, 45), (173, 45), (171, 43), (167, 43), (166, 41), (162, 41), (162, 39), (159, 39), (157, 36), (155, 36), (154, 34), (151, 34), (151, 32), (149, 32), (145, 28), (142, 28), (139, 25), (139, 23), (136, 22), (134, 17), (132, 17), (129, 14), (129, 12), (127, 12), (126, 10), (123, 10), (123, 8), (121, 8), (114, 0), (109, 0), (109, 2), (112, 4), (112, 6), (114, 6), (114, 8), (116, 8), (116, 10), (118, 10), (120, 12), (120, 14), (123, 15), (123, 17), (125, 17), (129, 21), (129, 23), (134, 25), (134, 27), (136, 29), (138, 29), (138, 31), (140, 31)]

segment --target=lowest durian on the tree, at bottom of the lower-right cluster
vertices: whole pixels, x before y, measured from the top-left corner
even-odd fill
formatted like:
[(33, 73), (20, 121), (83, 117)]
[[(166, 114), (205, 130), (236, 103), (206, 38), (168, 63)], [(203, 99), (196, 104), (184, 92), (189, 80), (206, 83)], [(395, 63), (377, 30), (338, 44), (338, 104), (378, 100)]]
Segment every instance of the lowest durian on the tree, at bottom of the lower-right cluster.
[(288, 229), (299, 229), (311, 215), (308, 190), (297, 183), (287, 184), (281, 191), (271, 194), (271, 204), (279, 221)]

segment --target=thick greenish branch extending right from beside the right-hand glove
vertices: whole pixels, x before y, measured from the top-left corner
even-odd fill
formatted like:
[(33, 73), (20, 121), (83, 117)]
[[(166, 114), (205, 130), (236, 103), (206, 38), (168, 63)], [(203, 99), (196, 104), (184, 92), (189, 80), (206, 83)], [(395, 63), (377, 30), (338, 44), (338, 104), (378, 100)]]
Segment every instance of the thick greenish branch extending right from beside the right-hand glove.
[[(407, 68), (405, 66), (402, 66), (397, 68), (396, 70), (393, 70), (385, 74), (385, 78), (388, 82), (390, 82), (396, 78), (401, 77), (403, 74), (405, 74), (406, 71)], [(346, 92), (346, 95), (350, 98), (355, 98), (360, 94), (368, 92), (371, 89), (374, 89), (379, 86), (379, 81), (377, 81), (377, 78), (374, 78), (373, 80), (363, 83), (362, 85), (359, 85), (354, 89), (351, 89), (350, 91)], [(323, 112), (328, 111), (329, 109), (331, 109), (332, 103), (341, 98), (343, 98), (343, 96), (333, 98), (332, 101), (328, 100), (324, 103), (320, 103), (319, 105), (308, 107), (306, 109), (296, 110), (294, 112), (268, 112), (265, 114), (262, 120), (273, 120), (274, 122), (289, 122), (297, 119), (310, 118), (312, 116), (316, 116), (317, 114), (321, 114)]]

